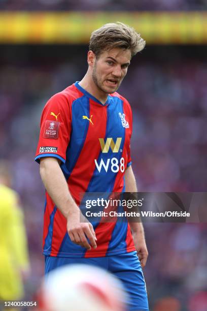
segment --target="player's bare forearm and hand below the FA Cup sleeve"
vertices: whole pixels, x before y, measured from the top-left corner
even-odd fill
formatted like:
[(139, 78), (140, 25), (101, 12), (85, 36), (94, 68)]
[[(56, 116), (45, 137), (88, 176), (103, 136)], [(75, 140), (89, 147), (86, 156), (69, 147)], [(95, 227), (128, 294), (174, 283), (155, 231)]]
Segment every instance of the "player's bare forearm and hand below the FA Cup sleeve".
[[(88, 250), (91, 246), (96, 248), (93, 226), (84, 219), (79, 207), (71, 196), (59, 163), (60, 160), (57, 158), (45, 157), (41, 159), (40, 175), (45, 188), (57, 208), (65, 216), (67, 232), (72, 242), (86, 247)], [(80, 222), (81, 217), (83, 217), (85, 222)]]

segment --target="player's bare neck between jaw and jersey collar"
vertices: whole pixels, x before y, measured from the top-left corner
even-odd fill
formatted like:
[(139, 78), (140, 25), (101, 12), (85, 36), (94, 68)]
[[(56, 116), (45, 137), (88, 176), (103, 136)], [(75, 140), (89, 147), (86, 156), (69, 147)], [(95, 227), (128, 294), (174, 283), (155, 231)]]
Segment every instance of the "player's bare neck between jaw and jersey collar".
[(97, 100), (99, 100), (103, 105), (106, 103), (108, 94), (101, 91), (93, 82), (92, 77), (90, 77), (87, 73), (83, 77), (83, 79), (79, 82), (79, 84), (87, 92), (89, 92), (92, 96), (94, 96)]

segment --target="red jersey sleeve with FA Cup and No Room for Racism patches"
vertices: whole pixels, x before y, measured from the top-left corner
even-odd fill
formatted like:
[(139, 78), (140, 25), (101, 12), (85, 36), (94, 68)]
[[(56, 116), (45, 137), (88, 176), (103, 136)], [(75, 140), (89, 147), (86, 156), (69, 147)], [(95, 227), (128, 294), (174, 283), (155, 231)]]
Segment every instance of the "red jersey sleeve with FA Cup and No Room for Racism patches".
[(45, 105), (41, 116), (40, 138), (35, 161), (53, 157), (65, 163), (71, 136), (72, 113), (70, 101), (62, 94), (54, 95)]

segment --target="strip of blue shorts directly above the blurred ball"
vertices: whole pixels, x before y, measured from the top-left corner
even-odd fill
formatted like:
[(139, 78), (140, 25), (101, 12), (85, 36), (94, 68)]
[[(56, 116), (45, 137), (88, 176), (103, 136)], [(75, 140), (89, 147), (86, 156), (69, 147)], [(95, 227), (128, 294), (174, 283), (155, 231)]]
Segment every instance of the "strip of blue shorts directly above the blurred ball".
[(67, 257), (52, 257), (45, 256), (45, 274), (48, 272), (65, 265), (85, 264), (100, 267), (103, 269), (108, 268), (106, 257), (97, 258), (67, 258)]

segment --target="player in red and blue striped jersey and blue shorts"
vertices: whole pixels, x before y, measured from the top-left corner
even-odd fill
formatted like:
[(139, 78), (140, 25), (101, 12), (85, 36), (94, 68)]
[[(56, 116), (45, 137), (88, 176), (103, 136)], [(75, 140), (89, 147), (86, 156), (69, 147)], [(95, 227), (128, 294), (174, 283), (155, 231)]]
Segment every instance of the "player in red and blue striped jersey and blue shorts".
[(47, 190), (46, 273), (73, 263), (106, 268), (124, 283), (130, 311), (149, 310), (142, 271), (148, 256), (143, 226), (102, 222), (93, 228), (80, 222), (78, 206), (81, 193), (136, 192), (131, 108), (116, 90), (131, 57), (144, 47), (140, 35), (123, 23), (95, 30), (86, 75), (54, 95), (43, 110), (36, 154)]

